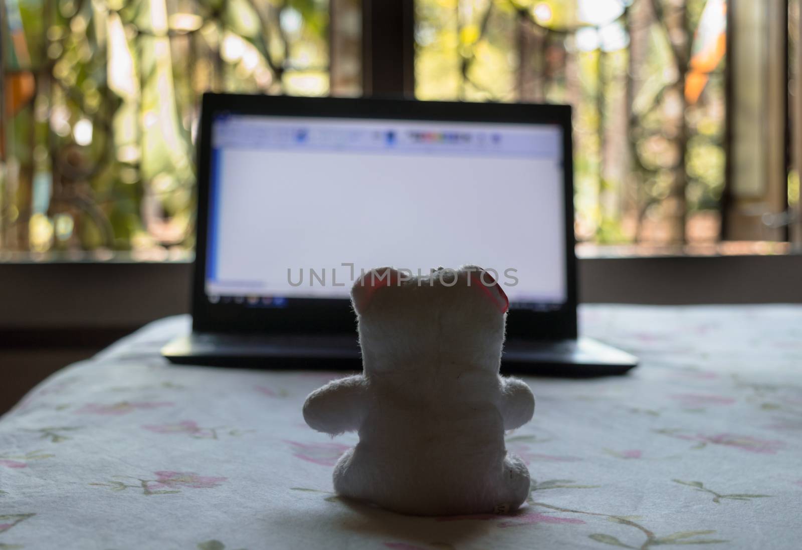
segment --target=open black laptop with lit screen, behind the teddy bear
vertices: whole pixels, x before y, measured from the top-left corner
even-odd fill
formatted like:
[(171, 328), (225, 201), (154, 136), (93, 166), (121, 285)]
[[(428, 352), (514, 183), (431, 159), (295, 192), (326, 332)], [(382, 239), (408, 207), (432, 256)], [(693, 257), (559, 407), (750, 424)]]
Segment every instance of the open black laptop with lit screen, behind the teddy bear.
[(502, 370), (622, 374), (577, 338), (570, 107), (206, 94), (192, 334), (171, 362), (360, 370), (360, 273), (481, 265), (509, 298)]

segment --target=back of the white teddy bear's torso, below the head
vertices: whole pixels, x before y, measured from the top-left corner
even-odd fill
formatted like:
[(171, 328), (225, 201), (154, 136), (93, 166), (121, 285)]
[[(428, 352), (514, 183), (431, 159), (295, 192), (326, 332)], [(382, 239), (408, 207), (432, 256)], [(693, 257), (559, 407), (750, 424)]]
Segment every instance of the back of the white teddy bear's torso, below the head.
[(482, 487), (497, 487), (505, 457), (503, 421), (492, 402), (389, 400), (367, 411), (348, 483), (398, 512), (470, 510), (487, 498)]

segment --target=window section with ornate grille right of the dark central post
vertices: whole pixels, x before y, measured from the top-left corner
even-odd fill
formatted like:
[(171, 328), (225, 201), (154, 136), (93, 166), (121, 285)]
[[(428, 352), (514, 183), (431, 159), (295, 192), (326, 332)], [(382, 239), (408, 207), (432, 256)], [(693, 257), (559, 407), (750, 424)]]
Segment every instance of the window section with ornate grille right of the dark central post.
[(571, 103), (577, 239), (714, 243), (724, 0), (418, 0), (422, 99)]

